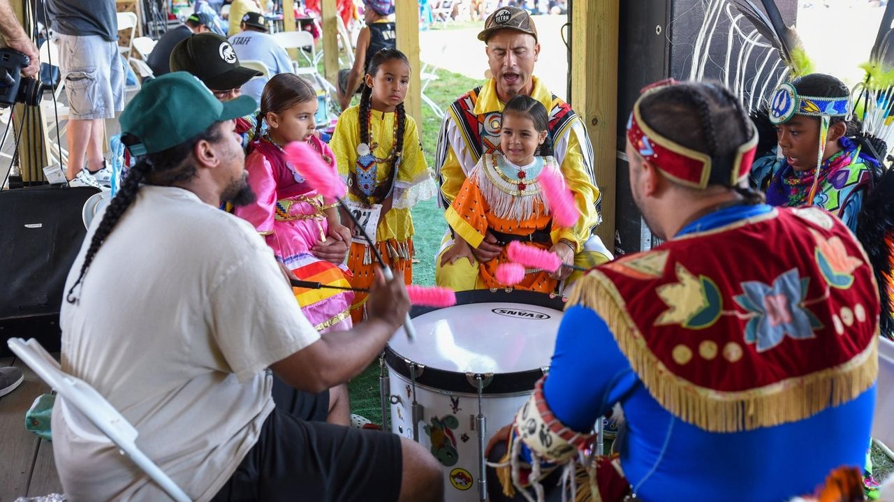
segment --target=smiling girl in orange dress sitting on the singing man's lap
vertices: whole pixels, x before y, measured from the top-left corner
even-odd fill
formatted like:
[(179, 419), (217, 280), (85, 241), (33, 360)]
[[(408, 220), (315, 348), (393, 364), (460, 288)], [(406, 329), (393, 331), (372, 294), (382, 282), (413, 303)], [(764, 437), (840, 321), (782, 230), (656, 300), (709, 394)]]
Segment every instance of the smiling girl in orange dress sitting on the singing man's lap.
[[(540, 183), (541, 175), (549, 171), (561, 179), (552, 157), (548, 121), (546, 108), (533, 97), (518, 95), (510, 99), (503, 109), (502, 155), (481, 156), (444, 214), (453, 230), (454, 244), (443, 253), (442, 264), (466, 258), (476, 266), (472, 248), (478, 247), (488, 232), (503, 247), (501, 255), (477, 264), (475, 289), (506, 286), (497, 280), (496, 268), (507, 261), (506, 246), (512, 240), (550, 250), (566, 264), (574, 262), (576, 244), (566, 238), (568, 232), (553, 223)], [(549, 293), (565, 272), (562, 268), (554, 273), (530, 272), (514, 287)]]

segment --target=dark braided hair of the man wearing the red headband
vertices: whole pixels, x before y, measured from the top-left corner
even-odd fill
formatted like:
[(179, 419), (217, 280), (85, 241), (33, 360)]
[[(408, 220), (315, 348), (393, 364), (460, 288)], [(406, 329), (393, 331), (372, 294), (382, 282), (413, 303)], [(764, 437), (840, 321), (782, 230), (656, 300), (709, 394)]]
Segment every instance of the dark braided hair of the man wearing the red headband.
[(730, 186), (738, 147), (754, 129), (729, 89), (713, 82), (679, 83), (643, 97), (639, 113), (663, 137), (711, 157), (709, 185), (733, 188), (746, 204), (763, 202), (763, 194), (752, 188)]

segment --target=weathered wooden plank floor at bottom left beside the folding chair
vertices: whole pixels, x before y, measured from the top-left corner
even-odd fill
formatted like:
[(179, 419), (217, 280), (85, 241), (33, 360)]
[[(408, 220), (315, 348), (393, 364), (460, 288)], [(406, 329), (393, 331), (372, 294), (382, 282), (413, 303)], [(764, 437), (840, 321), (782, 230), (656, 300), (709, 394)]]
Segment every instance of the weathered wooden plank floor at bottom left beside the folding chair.
[(25, 412), (49, 388), (20, 360), (0, 358), (0, 366), (11, 365), (25, 373), (25, 381), (0, 397), (0, 502), (62, 493), (53, 462), (53, 444), (25, 430)]

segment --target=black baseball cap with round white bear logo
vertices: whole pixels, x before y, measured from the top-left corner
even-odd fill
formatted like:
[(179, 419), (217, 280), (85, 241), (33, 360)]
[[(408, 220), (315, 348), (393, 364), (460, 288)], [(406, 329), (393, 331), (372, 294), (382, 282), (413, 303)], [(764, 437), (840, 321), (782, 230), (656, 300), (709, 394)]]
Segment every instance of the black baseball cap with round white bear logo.
[(230, 42), (216, 33), (197, 33), (184, 38), (171, 52), (171, 71), (189, 71), (208, 88), (229, 90), (262, 75), (240, 66)]

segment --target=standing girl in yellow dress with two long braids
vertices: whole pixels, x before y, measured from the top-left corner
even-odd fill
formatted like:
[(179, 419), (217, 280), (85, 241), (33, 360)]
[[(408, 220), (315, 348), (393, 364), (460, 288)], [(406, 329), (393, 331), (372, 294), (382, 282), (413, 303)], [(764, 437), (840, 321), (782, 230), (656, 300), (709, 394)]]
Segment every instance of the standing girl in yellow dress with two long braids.
[[(348, 184), (351, 212), (359, 216), (367, 233), (375, 233), (375, 246), (385, 264), (395, 274), (402, 273), (407, 284), (412, 281), (413, 258), (409, 210), (418, 201), (434, 197), (436, 189), (416, 122), (403, 108), (409, 72), (409, 61), (401, 51), (385, 48), (376, 53), (364, 77), (360, 104), (342, 113), (331, 141), (339, 172)], [(346, 215), (342, 222), (349, 222)], [(369, 288), (378, 265), (372, 249), (358, 238), (358, 230), (352, 230), (351, 286)], [(362, 318), (365, 301), (366, 295), (356, 295), (351, 307), (355, 322)]]

